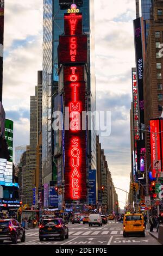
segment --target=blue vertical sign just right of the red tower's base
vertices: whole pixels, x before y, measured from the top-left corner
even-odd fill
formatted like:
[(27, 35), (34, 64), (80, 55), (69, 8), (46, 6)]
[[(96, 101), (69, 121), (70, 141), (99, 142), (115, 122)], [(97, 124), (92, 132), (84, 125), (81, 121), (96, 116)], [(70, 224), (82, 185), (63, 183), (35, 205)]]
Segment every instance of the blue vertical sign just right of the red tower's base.
[(96, 170), (89, 170), (89, 204), (96, 204)]

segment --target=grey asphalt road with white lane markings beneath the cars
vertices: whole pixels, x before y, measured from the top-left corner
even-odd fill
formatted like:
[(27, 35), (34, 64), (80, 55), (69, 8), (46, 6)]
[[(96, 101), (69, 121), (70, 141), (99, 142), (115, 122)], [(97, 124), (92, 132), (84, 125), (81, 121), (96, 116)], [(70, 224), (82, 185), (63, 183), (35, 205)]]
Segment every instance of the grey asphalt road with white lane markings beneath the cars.
[[(26, 230), (26, 242), (21, 243), (18, 240), (17, 245), (161, 245), (154, 237), (148, 234), (146, 230), (145, 237), (123, 237), (123, 225), (115, 221), (108, 221), (102, 227), (89, 227), (88, 224), (68, 224), (69, 238), (64, 241), (59, 239), (49, 239), (40, 242), (39, 229)], [(4, 241), (4, 245), (11, 245), (10, 242)]]

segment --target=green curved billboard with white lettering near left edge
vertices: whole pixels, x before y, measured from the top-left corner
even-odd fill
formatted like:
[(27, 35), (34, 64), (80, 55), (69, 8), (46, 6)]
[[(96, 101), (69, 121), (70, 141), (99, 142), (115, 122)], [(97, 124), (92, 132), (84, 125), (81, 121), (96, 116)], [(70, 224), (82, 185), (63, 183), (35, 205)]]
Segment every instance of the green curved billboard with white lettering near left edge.
[(13, 121), (9, 119), (5, 119), (5, 139), (8, 144), (10, 162), (12, 162), (12, 156), (13, 156), (13, 127), (14, 127)]

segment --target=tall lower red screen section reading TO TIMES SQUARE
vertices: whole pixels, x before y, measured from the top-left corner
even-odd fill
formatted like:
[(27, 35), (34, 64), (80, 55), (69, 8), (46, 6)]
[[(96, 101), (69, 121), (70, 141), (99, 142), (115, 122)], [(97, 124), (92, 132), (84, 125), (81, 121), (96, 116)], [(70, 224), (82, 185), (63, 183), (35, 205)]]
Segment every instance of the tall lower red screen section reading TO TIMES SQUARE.
[(86, 133), (84, 66), (64, 67), (65, 107), (69, 108), (70, 130), (65, 130), (65, 200), (86, 199)]

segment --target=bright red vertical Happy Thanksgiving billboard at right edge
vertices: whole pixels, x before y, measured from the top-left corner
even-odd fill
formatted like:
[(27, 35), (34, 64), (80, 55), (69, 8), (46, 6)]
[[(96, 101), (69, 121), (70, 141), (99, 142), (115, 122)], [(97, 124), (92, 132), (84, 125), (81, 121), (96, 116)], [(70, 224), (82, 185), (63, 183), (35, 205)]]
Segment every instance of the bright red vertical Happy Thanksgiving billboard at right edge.
[(156, 178), (156, 173), (161, 172), (161, 133), (160, 132), (160, 120), (150, 120), (150, 136), (151, 136), (151, 166), (152, 176)]

